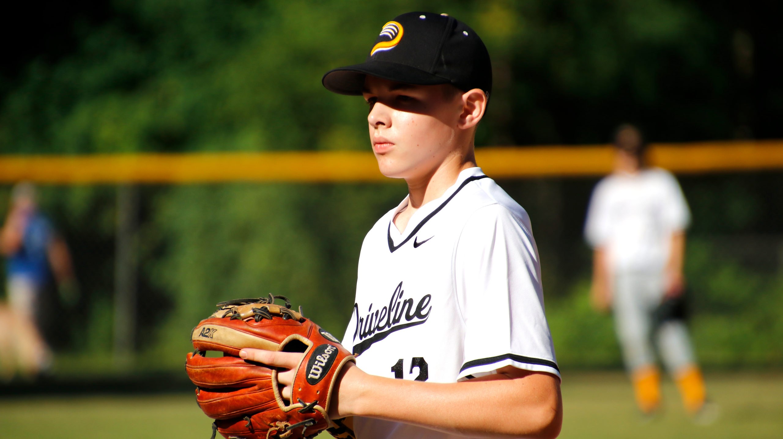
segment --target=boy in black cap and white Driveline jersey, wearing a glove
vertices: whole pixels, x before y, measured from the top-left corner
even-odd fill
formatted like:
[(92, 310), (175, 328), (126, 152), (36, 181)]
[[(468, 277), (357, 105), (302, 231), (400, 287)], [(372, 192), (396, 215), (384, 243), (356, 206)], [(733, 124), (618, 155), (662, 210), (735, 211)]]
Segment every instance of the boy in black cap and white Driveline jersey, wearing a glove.
[[(409, 189), (364, 240), (342, 342), (357, 360), (330, 414), (354, 416), (359, 438), (557, 437), (560, 372), (530, 221), (474, 158), (492, 90), (482, 40), (450, 16), (406, 13), (365, 63), (323, 85), (363, 96), (381, 173)], [(240, 356), (283, 369), (301, 358)], [(292, 377), (280, 373), (283, 398)]]

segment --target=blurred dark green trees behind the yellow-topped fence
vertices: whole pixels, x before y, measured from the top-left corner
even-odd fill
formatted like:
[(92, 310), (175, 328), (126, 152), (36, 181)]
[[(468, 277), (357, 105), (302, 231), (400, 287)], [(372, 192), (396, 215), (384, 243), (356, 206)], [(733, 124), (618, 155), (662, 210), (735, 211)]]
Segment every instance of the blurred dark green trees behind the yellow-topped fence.
[[(59, 17), (36, 22), (32, 53), (16, 50), (13, 66), (0, 70), (0, 145), (3, 153), (363, 149), (365, 104), (327, 92), (320, 77), (363, 60), (383, 23), (417, 9), (470, 23), (489, 47), (495, 87), (479, 146), (605, 142), (620, 121), (639, 121), (654, 141), (783, 136), (777, 2), (114, 0), (56, 9), (71, 28)], [(567, 365), (619, 364), (611, 322), (586, 300), (581, 228), (594, 183), (501, 182), (531, 214)], [(688, 271), (700, 291), (699, 352), (713, 365), (783, 364), (783, 329), (770, 314), (781, 310), (780, 279), (738, 254), (712, 257), (710, 246), (716, 236), (780, 235), (781, 207), (768, 200), (781, 199), (781, 176), (683, 185), (695, 218)], [(187, 329), (228, 298), (286, 294), (341, 333), (364, 233), (405, 188), (150, 185), (139, 193), (138, 339), (149, 347), (139, 365), (165, 369), (180, 367)], [(105, 354), (116, 191), (49, 187), (41, 196), (85, 293), (70, 351)]]

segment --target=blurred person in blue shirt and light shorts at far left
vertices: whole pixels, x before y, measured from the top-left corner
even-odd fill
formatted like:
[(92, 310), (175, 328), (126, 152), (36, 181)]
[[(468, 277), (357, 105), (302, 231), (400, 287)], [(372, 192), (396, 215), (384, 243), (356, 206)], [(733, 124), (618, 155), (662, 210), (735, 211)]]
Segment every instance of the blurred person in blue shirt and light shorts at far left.
[[(9, 306), (0, 309), (5, 340), (2, 356), (13, 358), (24, 376), (45, 372), (52, 351), (41, 333), (41, 298), (50, 273), (64, 301), (73, 303), (78, 289), (68, 248), (38, 211), (36, 191), (30, 183), (13, 188), (11, 205), (0, 231), (0, 251), (6, 257), (5, 279)], [(6, 361), (5, 364), (8, 362)]]

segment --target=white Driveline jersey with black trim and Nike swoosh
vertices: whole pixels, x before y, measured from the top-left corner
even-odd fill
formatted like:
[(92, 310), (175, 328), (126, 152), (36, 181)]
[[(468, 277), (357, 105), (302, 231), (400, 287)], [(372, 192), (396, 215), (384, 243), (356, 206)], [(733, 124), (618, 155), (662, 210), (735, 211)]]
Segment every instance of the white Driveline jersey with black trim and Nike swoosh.
[[(365, 372), (455, 383), (506, 365), (559, 376), (544, 316), (538, 250), (527, 213), (473, 167), (420, 207), (404, 232), (395, 215), (370, 229), (343, 344)], [(355, 418), (361, 438), (452, 437)]]

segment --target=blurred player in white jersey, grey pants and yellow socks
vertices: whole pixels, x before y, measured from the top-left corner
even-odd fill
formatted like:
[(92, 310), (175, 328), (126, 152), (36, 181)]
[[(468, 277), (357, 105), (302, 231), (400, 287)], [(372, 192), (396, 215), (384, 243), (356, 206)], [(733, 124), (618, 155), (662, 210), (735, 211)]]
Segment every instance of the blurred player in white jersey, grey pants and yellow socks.
[(661, 403), (658, 348), (691, 416), (704, 415), (705, 386), (682, 318), (656, 318), (682, 299), (685, 229), (690, 213), (677, 180), (644, 166), (644, 137), (631, 124), (615, 130), (615, 169), (590, 199), (585, 236), (594, 248), (592, 300), (612, 307), (615, 330), (637, 405), (652, 415)]

